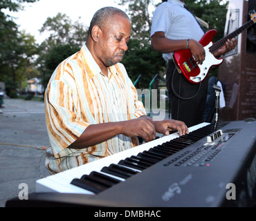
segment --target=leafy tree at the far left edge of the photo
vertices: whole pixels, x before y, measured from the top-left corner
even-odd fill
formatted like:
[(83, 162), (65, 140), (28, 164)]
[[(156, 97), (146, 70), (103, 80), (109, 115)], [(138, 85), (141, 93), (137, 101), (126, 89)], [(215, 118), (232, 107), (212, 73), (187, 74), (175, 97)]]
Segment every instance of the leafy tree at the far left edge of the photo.
[[(38, 0), (2, 0), (0, 1), (0, 81), (7, 84), (7, 90), (14, 90), (24, 79), (26, 70), (30, 68), (37, 45), (35, 39), (25, 32), (19, 32), (13, 17), (2, 10), (12, 12), (23, 10), (23, 3), (33, 3)], [(9, 88), (8, 88), (9, 86)]]

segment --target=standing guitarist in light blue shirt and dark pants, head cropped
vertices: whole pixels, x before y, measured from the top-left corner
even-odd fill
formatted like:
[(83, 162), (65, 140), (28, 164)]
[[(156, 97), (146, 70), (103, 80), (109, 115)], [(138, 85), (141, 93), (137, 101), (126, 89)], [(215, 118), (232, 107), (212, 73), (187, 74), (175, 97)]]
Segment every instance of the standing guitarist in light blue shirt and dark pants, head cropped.
[[(172, 59), (172, 52), (189, 49), (194, 60), (201, 64), (205, 50), (199, 43), (205, 34), (199, 21), (186, 8), (183, 0), (162, 0), (156, 8), (151, 28), (152, 48), (163, 53), (167, 61), (166, 85), (170, 95), (172, 119), (179, 119), (188, 126), (203, 122), (208, 81), (191, 84), (180, 75)], [(228, 39), (226, 45), (214, 53), (224, 55), (237, 46), (236, 39)]]

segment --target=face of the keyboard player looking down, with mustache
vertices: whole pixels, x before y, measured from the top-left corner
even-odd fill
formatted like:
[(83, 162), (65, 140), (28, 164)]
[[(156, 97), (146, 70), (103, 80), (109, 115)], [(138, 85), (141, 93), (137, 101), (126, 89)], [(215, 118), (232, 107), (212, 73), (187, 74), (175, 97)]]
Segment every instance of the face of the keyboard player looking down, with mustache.
[(98, 41), (98, 58), (104, 66), (113, 66), (122, 60), (128, 49), (131, 23), (128, 19), (116, 15), (100, 30), (102, 35)]

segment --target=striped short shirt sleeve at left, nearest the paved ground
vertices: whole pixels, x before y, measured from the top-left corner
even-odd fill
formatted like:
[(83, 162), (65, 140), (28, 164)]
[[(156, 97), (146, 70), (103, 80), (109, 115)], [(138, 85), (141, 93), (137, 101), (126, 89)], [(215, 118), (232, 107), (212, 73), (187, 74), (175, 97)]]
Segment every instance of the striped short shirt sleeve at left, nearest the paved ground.
[(84, 132), (88, 123), (82, 122), (77, 110), (77, 95), (64, 81), (55, 79), (46, 90), (46, 126), (55, 157), (75, 152), (66, 148)]

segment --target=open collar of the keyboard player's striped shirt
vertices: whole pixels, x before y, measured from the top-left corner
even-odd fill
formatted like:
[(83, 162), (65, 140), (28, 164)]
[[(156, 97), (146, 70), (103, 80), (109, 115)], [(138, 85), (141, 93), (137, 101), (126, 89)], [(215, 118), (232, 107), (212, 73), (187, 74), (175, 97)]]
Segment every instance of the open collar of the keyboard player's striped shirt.
[[(86, 72), (88, 73), (90, 79), (95, 75), (102, 73), (100, 70), (100, 67), (98, 66), (96, 61), (93, 59), (93, 56), (91, 55), (91, 52), (89, 51), (85, 43), (82, 45), (80, 53), (82, 56), (82, 61), (84, 63), (84, 66), (86, 67)], [(116, 67), (110, 66), (109, 77), (113, 74), (117, 74)]]

